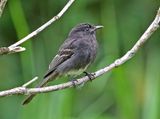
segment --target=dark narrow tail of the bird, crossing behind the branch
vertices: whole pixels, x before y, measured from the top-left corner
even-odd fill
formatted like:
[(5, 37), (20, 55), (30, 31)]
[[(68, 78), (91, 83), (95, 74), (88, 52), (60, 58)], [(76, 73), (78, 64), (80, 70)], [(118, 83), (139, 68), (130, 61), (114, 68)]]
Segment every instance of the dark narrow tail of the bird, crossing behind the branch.
[[(49, 81), (56, 79), (57, 76), (58, 76), (57, 72), (53, 72), (51, 75), (45, 76), (43, 81), (38, 86), (36, 86), (36, 88), (44, 87), (45, 85), (47, 85)], [(36, 94), (28, 95), (26, 99), (22, 102), (22, 104), (23, 105), (28, 104), (35, 96)]]

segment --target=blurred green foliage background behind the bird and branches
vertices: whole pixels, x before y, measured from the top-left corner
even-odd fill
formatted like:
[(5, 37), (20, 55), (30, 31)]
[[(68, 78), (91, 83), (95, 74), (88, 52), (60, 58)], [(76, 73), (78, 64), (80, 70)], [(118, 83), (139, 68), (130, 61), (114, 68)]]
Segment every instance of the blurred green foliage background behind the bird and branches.
[[(0, 47), (44, 24), (67, 1), (8, 0), (0, 18)], [(70, 29), (82, 22), (104, 25), (97, 33), (97, 59), (88, 71), (105, 67), (136, 43), (159, 5), (159, 0), (76, 0), (61, 19), (22, 45), (25, 52), (0, 56), (0, 90), (21, 86), (34, 76), (42, 79)], [(130, 61), (82, 89), (40, 94), (26, 106), (21, 105), (23, 95), (0, 98), (0, 119), (160, 119), (159, 34)]]

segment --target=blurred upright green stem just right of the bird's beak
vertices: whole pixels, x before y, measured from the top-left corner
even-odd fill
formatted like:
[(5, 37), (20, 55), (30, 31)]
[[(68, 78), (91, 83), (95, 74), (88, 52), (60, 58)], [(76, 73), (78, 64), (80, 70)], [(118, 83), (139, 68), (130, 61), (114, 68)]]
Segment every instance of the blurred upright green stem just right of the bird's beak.
[[(106, 5), (108, 6), (106, 7)], [(105, 1), (104, 4), (102, 4), (101, 16), (102, 16), (101, 17), (102, 24), (104, 26), (107, 26), (107, 29), (102, 30), (102, 39), (107, 39), (103, 41), (105, 44), (105, 50), (107, 50), (109, 54), (114, 53), (111, 59), (112, 61), (113, 59), (119, 56), (116, 13), (115, 13), (115, 6), (112, 0)], [(112, 48), (110, 48), (110, 44), (112, 44)]]

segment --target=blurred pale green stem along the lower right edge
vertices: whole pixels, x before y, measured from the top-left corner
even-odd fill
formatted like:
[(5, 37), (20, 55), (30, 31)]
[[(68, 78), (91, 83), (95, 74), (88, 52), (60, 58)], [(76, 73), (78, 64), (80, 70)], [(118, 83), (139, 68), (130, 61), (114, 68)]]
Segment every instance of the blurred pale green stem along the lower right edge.
[(152, 48), (152, 50), (148, 54), (142, 116), (143, 119), (159, 119), (159, 50), (158, 48)]

